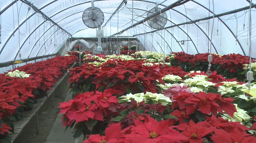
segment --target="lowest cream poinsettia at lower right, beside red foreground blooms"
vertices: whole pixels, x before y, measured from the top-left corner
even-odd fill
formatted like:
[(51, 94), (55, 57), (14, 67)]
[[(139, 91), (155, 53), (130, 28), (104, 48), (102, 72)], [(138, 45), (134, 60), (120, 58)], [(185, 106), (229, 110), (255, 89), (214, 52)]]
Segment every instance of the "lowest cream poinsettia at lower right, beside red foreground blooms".
[(247, 111), (244, 111), (243, 109), (240, 109), (237, 107), (237, 104), (234, 104), (236, 106), (236, 111), (233, 114), (233, 118), (228, 114), (221, 115), (224, 120), (227, 120), (229, 122), (240, 122), (240, 124), (245, 124), (245, 122), (249, 121), (251, 117), (247, 114)]

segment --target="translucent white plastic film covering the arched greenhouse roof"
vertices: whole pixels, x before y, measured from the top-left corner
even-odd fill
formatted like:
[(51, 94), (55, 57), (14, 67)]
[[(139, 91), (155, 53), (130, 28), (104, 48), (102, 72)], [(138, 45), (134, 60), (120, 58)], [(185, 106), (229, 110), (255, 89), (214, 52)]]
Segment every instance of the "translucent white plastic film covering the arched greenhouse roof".
[[(156, 3), (159, 3), (159, 8), (165, 8), (176, 1), (128, 0), (126, 5), (123, 4), (118, 8), (123, 0), (94, 0), (94, 6), (104, 12), (105, 20), (102, 29), (105, 37), (131, 26), (132, 23), (143, 20), (147, 17), (147, 11), (154, 8)], [(1, 63), (55, 54), (71, 35), (84, 35), (86, 33), (85, 37), (96, 36), (96, 30), (94, 32), (82, 22), (82, 13), (86, 8), (91, 7), (91, 1), (29, 0), (29, 2), (62, 29), (44, 19), (41, 13), (35, 12), (32, 8), (28, 10), (29, 6), (21, 0), (1, 0)], [(249, 0), (214, 0), (214, 13), (222, 14), (249, 7), (249, 2)], [(254, 4), (253, 6), (252, 17), (256, 17), (256, 8)], [(113, 14), (117, 9), (118, 11)], [(109, 20), (112, 14), (113, 17)], [(165, 27), (181, 25), (143, 34), (154, 31), (147, 22), (144, 22), (115, 36), (130, 37), (135, 35), (146, 50), (165, 52), (166, 54), (180, 51), (190, 54), (206, 53), (213, 26), (212, 53), (249, 55), (249, 8), (216, 17), (214, 25), (212, 25), (213, 19), (202, 20), (193, 24), (182, 24), (213, 16), (212, 0), (190, 0), (166, 11), (166, 14), (168, 21)], [(107, 21), (108, 23), (106, 23)], [(256, 19), (252, 18), (253, 57), (256, 57), (255, 23)], [(182, 40), (185, 41), (183, 45), (180, 43)], [(19, 57), (20, 55), (21, 57)]]

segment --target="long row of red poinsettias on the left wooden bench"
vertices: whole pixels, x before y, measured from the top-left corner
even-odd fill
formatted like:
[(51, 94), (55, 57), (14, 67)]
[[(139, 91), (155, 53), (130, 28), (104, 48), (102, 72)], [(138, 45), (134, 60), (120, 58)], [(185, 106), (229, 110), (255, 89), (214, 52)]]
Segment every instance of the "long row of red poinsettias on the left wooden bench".
[[(16, 69), (31, 74), (29, 78), (15, 78), (0, 74), (0, 119), (15, 114), (15, 109), (20, 107), (36, 96), (35, 91), (41, 89), (46, 92), (54, 86), (57, 79), (61, 78), (67, 68), (73, 64), (77, 58), (75, 56), (57, 56), (46, 61), (34, 64), (27, 64)], [(14, 69), (15, 70), (15, 69)], [(8, 127), (0, 128), (0, 134), (7, 131)], [(1, 132), (3, 131), (3, 132)]]

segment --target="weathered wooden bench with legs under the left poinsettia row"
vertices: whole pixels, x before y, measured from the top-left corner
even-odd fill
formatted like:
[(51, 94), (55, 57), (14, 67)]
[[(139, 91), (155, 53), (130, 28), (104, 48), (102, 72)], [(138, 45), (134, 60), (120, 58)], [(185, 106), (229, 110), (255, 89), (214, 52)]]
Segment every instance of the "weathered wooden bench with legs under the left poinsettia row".
[[(76, 64), (76, 62), (70, 68), (73, 68), (75, 64)], [(52, 87), (52, 90), (48, 90), (47, 91), (47, 97), (38, 99), (38, 103), (35, 106), (33, 106), (33, 110), (32, 111), (27, 111), (27, 112), (25, 112), (23, 114), (23, 119), (22, 120), (13, 122), (13, 124), (14, 124), (14, 133), (9, 133), (9, 137), (10, 137), (12, 142), (18, 137), (18, 135), (21, 133), (22, 129), (26, 126), (26, 124), (31, 120), (31, 118), (33, 116), (36, 116), (36, 118), (37, 118), (37, 121), (36, 121), (37, 122), (37, 135), (39, 134), (39, 129), (38, 129), (38, 110), (44, 104), (46, 99), (48, 99), (51, 95), (52, 95), (52, 100), (53, 100), (53, 92), (54, 92), (54, 90), (58, 87), (59, 84), (60, 84), (60, 86), (62, 86), (62, 81), (68, 75), (68, 73), (69, 73), (69, 71), (67, 73), (65, 73), (62, 76), (62, 78), (55, 83), (54, 87)]]

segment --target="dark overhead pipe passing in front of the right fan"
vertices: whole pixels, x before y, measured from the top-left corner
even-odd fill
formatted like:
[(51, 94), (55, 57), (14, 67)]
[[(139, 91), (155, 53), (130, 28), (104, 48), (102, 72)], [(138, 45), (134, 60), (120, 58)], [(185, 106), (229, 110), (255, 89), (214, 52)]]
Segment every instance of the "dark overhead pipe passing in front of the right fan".
[[(168, 5), (167, 7), (163, 8), (163, 9), (161, 10), (161, 12), (165, 12), (165, 11), (171, 9), (171, 8), (174, 8), (174, 7), (177, 7), (177, 6), (179, 6), (179, 5), (185, 4), (185, 3), (188, 2), (188, 1), (190, 1), (190, 0), (185, 0), (185, 1), (184, 1), (184, 0), (179, 0), (179, 1), (176, 1), (176, 2), (174, 2), (173, 4)], [(137, 23), (134, 23), (132, 26), (129, 26), (129, 27), (123, 29), (123, 30), (120, 31), (120, 32), (117, 32), (117, 33), (115, 33), (115, 34), (113, 34), (113, 35), (110, 35), (109, 37), (112, 37), (112, 36), (117, 35), (117, 34), (122, 34), (124, 31), (126, 31), (126, 30), (128, 30), (128, 29), (130, 29), (130, 28), (133, 28), (133, 27), (135, 27), (136, 25), (139, 25), (139, 24), (141, 24), (141, 23), (144, 23), (144, 22), (146, 22), (148, 19), (151, 19), (152, 17), (157, 16), (157, 15), (159, 15), (159, 14), (160, 14), (160, 11), (158, 11), (158, 12), (152, 14), (151, 16), (147, 16), (145, 19), (143, 19), (143, 20), (141, 20), (141, 21), (139, 21), (139, 22), (137, 22)]]

